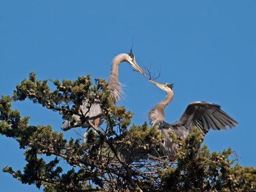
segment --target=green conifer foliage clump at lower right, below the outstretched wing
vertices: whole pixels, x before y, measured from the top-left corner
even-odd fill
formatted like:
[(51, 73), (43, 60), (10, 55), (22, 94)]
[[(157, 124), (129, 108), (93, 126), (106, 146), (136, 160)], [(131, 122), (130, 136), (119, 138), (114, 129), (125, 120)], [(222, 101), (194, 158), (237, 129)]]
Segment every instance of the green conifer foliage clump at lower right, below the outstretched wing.
[[(256, 169), (230, 160), (232, 150), (210, 152), (200, 147), (198, 129), (182, 141), (174, 165), (162, 170), (164, 191), (250, 191), (256, 186)], [(243, 174), (241, 174), (243, 173)]]

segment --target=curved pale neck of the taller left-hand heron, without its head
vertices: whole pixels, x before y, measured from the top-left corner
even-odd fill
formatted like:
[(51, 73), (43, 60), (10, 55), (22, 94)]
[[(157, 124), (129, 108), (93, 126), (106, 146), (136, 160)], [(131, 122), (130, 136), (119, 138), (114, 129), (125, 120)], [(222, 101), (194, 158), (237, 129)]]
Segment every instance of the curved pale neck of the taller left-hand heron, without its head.
[(108, 89), (113, 103), (120, 100), (120, 96), (122, 94), (120, 82), (118, 82), (118, 66), (123, 61), (125, 61), (125, 54), (118, 54), (111, 63), (111, 71), (108, 78)]

